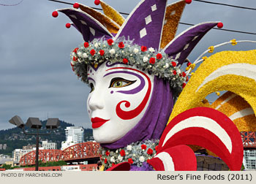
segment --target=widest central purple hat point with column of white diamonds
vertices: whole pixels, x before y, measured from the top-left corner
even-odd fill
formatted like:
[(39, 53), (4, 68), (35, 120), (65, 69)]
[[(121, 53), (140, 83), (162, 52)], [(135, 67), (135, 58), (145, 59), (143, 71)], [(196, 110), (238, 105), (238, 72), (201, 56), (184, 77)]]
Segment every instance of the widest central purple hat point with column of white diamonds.
[(134, 39), (134, 43), (159, 49), (167, 0), (143, 0), (129, 15), (116, 38)]

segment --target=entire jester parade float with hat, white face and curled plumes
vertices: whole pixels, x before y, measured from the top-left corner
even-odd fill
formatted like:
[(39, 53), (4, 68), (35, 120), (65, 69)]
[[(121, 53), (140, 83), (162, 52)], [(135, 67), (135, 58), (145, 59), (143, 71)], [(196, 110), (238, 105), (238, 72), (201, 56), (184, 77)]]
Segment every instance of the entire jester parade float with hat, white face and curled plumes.
[[(98, 0), (104, 13), (80, 3), (53, 12), (67, 15), (67, 28), (83, 36), (71, 66), (91, 88), (87, 110), (102, 170), (197, 170), (200, 147), (230, 170), (241, 169), (239, 131), (255, 131), (256, 50), (205, 56), (240, 42), (233, 39), (191, 63), (200, 39), (223, 24), (200, 23), (176, 36), (190, 2), (142, 0), (126, 19)], [(216, 91), (228, 92), (208, 104), (206, 96)]]

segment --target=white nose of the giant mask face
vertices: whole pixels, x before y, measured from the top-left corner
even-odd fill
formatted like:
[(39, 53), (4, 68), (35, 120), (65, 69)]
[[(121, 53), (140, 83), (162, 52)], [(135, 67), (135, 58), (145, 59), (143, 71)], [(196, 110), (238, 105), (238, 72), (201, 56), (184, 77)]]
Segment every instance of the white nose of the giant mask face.
[(94, 89), (89, 97), (89, 108), (90, 110), (102, 110), (104, 108), (104, 100), (102, 98), (102, 91)]

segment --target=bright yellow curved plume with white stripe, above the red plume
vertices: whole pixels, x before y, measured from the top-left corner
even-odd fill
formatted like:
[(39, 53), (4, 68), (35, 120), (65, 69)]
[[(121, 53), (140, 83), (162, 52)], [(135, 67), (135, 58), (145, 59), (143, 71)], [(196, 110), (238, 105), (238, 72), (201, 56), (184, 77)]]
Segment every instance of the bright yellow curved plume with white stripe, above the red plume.
[(255, 67), (256, 50), (223, 51), (211, 55), (198, 67), (181, 92), (168, 123), (181, 112), (197, 107), (202, 99), (215, 91), (236, 93), (256, 112)]

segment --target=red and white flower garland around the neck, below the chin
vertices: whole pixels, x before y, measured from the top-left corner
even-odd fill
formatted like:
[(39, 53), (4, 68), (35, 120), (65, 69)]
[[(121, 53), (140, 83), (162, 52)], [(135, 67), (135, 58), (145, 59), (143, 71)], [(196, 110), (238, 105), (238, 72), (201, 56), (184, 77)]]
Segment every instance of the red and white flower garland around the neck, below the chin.
[(108, 150), (105, 147), (100, 147), (99, 154), (104, 169), (120, 164), (122, 162), (129, 162), (129, 164), (136, 164), (142, 166), (143, 162), (148, 161), (157, 154), (158, 139), (146, 140), (144, 142), (133, 142), (127, 147), (119, 148), (117, 150)]

